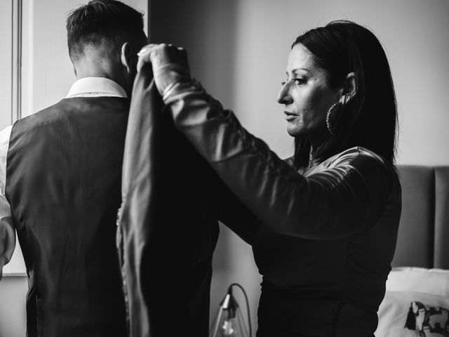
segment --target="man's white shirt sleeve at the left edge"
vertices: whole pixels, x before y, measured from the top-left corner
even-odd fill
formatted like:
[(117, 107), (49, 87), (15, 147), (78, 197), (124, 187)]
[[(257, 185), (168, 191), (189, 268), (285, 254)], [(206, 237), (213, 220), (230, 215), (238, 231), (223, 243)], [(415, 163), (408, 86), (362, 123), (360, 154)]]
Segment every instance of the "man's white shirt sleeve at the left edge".
[(11, 208), (5, 195), (6, 156), (8, 154), (11, 126), (0, 132), (0, 279), (3, 266), (11, 260), (15, 249), (15, 229)]

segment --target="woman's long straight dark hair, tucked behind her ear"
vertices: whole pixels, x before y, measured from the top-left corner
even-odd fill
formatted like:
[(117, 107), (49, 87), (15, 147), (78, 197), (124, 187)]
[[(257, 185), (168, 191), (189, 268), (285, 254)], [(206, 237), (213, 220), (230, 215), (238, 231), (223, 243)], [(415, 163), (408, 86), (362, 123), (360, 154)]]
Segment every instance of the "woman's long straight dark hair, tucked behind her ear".
[[(398, 119), (396, 97), (387, 56), (379, 40), (354, 22), (333, 21), (297, 37), (292, 48), (297, 44), (306, 47), (315, 64), (326, 71), (331, 87), (342, 84), (350, 72), (354, 72), (356, 79), (356, 95), (334, 113), (334, 135), (314, 153), (315, 157), (328, 158), (361, 146), (393, 164)], [(307, 166), (310, 146), (308, 140), (295, 139), (297, 168)]]

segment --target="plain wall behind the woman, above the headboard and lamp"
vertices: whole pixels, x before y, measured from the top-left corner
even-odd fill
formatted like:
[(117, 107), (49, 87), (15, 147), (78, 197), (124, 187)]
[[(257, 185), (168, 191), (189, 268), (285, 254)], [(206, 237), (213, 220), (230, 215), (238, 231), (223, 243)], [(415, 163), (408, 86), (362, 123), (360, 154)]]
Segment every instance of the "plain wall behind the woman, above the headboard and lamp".
[[(290, 45), (313, 27), (354, 20), (371, 29), (387, 51), (400, 122), (397, 162), (448, 165), (448, 18), (446, 0), (153, 0), (150, 38), (187, 48), (194, 77), (250, 132), (288, 157), (293, 140), (276, 95)], [(252, 253), (222, 227), (211, 315), (230, 282), (246, 287), (255, 316), (260, 277)]]

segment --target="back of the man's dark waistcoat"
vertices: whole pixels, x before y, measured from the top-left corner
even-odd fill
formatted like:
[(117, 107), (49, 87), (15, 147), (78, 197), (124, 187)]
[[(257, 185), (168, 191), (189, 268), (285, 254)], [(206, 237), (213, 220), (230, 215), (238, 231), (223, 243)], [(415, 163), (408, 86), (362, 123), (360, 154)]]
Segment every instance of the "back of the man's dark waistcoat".
[(68, 98), (12, 129), (6, 169), (27, 274), (27, 336), (126, 336), (116, 212), (125, 98)]

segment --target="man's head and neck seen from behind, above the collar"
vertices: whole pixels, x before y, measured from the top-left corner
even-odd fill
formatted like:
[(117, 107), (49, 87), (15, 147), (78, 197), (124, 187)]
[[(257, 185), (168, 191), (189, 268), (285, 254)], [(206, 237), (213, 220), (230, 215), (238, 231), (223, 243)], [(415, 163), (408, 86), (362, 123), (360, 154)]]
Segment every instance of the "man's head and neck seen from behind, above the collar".
[(142, 13), (115, 0), (92, 0), (67, 18), (67, 44), (76, 78), (107, 77), (133, 86), (137, 53), (148, 43)]

